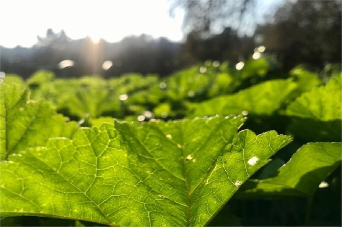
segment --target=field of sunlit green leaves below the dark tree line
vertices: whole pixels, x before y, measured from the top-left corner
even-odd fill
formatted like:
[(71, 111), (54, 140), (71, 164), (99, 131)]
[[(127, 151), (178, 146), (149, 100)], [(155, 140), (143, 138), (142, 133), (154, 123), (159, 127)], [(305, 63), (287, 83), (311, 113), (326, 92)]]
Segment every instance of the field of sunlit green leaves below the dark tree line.
[(1, 225), (341, 226), (341, 70), (236, 68), (6, 75)]

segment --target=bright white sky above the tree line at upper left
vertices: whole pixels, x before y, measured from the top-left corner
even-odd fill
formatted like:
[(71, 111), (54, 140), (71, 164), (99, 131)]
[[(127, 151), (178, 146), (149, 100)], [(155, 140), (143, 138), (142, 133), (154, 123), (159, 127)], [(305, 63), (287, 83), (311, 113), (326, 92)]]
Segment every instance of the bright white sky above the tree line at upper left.
[(183, 38), (184, 11), (169, 16), (168, 0), (1, 0), (0, 45), (30, 47), (46, 30), (64, 29), (73, 39), (90, 36), (120, 41), (142, 33), (153, 38)]

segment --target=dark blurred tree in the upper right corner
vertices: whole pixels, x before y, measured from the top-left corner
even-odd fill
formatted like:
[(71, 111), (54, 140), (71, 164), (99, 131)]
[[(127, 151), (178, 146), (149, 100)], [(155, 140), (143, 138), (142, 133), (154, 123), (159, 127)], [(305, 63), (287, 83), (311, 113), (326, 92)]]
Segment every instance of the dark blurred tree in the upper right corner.
[(274, 21), (259, 25), (256, 35), (275, 53), (284, 67), (304, 63), (321, 69), (326, 63), (341, 63), (342, 1), (288, 1)]

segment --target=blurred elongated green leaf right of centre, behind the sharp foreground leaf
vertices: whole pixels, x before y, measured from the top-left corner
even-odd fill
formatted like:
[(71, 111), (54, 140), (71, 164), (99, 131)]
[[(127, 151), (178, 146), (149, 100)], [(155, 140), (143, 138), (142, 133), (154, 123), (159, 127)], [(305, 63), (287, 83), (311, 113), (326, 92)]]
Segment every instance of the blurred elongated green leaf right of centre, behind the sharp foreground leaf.
[(248, 111), (252, 114), (270, 115), (296, 88), (290, 80), (270, 80), (233, 95), (224, 95), (193, 105), (195, 116), (215, 114), (239, 114)]

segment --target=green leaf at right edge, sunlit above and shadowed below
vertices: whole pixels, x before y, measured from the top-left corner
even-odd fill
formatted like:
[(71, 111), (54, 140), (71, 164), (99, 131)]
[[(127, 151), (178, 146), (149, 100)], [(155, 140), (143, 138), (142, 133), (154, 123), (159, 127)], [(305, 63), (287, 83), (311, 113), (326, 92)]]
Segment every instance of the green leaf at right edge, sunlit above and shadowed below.
[(299, 96), (286, 110), (289, 131), (308, 141), (341, 141), (341, 89), (341, 76), (335, 76)]

